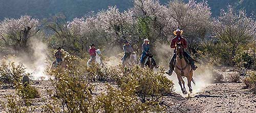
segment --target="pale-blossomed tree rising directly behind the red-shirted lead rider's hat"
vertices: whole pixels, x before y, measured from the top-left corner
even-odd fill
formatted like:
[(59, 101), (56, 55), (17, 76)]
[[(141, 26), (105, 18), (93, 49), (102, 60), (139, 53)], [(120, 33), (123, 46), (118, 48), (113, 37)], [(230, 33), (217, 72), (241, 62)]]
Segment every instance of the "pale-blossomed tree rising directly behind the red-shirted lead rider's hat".
[(197, 49), (198, 44), (211, 31), (210, 8), (207, 2), (197, 3), (189, 0), (188, 4), (181, 1), (172, 1), (168, 5), (168, 16), (173, 18), (176, 27), (184, 31), (184, 37), (188, 41), (188, 48)]

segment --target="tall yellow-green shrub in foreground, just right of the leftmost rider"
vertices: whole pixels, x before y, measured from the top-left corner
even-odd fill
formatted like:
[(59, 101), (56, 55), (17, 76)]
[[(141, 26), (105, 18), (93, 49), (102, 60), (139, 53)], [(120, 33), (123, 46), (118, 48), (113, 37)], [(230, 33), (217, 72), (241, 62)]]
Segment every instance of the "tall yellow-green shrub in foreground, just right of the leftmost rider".
[(81, 59), (71, 56), (67, 61), (69, 65), (66, 70), (51, 72), (55, 76), (55, 80), (52, 80), (55, 96), (61, 101), (63, 112), (96, 112), (98, 108), (91, 95), (92, 86), (85, 79), (86, 70)]

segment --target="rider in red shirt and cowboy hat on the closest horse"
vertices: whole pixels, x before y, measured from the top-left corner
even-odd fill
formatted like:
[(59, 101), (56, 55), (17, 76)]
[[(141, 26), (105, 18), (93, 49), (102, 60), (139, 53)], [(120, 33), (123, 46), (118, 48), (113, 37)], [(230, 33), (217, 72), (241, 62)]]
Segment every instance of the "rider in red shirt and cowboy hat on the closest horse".
[[(186, 40), (183, 37), (181, 37), (182, 33), (183, 33), (183, 31), (180, 30), (179, 28), (176, 31), (174, 31), (174, 35), (176, 35), (176, 37), (173, 38), (172, 42), (170, 43), (170, 48), (174, 48), (174, 54), (173, 54), (172, 59), (169, 62), (169, 70), (167, 72), (165, 72), (168, 75), (172, 75), (173, 70), (174, 70), (174, 60), (176, 58), (176, 48), (175, 48), (176, 47), (176, 43), (177, 42), (181, 42), (183, 44), (184, 48), (187, 48)], [(195, 65), (194, 60), (191, 58), (191, 56), (187, 52), (185, 52), (185, 51), (184, 51), (184, 56), (187, 58), (187, 60), (191, 64), (191, 68), (193, 70), (196, 70), (197, 66)]]

